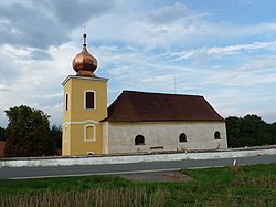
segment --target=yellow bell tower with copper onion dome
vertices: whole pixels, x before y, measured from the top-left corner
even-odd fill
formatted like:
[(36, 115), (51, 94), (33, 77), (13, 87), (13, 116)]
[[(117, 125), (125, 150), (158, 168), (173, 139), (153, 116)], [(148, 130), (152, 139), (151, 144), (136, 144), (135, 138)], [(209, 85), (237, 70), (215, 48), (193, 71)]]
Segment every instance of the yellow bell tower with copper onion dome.
[(63, 135), (62, 155), (103, 154), (103, 124), (107, 117), (107, 79), (94, 74), (97, 60), (86, 49), (73, 60), (76, 75), (62, 83)]

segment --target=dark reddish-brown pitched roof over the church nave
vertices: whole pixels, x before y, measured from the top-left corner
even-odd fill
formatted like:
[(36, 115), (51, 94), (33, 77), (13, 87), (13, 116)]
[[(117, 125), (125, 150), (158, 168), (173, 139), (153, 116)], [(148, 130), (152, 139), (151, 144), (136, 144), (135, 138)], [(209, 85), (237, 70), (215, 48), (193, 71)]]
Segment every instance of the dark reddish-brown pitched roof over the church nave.
[(203, 96), (123, 91), (108, 107), (110, 122), (220, 121)]

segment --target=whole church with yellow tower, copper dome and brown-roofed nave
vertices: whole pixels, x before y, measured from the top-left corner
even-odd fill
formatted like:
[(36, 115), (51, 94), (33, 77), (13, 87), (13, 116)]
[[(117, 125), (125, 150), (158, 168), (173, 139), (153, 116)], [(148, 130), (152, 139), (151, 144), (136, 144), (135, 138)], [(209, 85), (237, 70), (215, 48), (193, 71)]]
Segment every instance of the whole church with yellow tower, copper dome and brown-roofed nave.
[(62, 155), (227, 148), (225, 121), (203, 96), (123, 91), (107, 107), (86, 34), (73, 68), (62, 83)]

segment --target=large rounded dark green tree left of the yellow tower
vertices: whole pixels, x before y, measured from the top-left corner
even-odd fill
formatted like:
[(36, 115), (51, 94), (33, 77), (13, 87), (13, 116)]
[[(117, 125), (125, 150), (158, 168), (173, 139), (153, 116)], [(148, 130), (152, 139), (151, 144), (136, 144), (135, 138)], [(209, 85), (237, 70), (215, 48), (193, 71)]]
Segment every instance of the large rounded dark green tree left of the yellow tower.
[(6, 111), (6, 156), (53, 155), (54, 143), (50, 138), (49, 115), (40, 110), (21, 105)]

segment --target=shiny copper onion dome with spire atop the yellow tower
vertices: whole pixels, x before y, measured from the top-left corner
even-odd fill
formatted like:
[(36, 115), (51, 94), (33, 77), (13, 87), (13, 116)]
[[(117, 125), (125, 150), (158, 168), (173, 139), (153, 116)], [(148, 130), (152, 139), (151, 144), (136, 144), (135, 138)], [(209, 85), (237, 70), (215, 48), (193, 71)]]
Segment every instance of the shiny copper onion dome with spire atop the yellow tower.
[(93, 72), (97, 69), (97, 60), (86, 49), (86, 34), (84, 33), (83, 37), (83, 51), (75, 56), (72, 65), (77, 76), (96, 77)]

